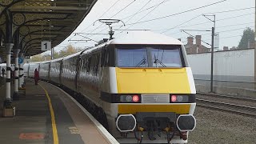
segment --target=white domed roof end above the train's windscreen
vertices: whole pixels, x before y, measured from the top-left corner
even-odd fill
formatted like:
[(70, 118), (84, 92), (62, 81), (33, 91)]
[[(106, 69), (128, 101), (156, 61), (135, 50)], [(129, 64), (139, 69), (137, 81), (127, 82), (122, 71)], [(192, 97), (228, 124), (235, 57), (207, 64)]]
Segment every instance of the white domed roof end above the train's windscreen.
[(151, 31), (130, 31), (120, 38), (114, 38), (108, 44), (151, 44), (151, 45), (182, 45), (176, 38)]

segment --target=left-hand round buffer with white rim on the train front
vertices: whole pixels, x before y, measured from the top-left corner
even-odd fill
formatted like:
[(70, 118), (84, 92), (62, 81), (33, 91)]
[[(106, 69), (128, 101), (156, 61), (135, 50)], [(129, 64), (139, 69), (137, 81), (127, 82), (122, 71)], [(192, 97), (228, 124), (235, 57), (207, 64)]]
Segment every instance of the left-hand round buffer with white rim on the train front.
[(116, 126), (121, 132), (133, 131), (136, 126), (136, 118), (133, 114), (120, 114), (117, 118)]

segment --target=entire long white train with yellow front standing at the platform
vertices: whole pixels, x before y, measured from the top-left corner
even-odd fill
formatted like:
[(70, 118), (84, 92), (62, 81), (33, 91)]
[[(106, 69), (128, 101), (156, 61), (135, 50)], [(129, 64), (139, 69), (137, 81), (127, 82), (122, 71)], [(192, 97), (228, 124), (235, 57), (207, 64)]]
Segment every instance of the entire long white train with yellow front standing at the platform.
[(25, 76), (68, 90), (120, 143), (186, 143), (196, 126), (194, 78), (178, 39), (132, 31)]

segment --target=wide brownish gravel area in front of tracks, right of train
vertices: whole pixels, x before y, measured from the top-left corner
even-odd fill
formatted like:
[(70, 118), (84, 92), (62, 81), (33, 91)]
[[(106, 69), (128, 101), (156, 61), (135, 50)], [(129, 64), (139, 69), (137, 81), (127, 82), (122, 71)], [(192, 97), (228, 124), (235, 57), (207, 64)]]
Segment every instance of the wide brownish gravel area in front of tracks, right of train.
[(189, 134), (190, 144), (256, 143), (256, 118), (198, 106), (194, 117), (197, 119), (197, 126)]

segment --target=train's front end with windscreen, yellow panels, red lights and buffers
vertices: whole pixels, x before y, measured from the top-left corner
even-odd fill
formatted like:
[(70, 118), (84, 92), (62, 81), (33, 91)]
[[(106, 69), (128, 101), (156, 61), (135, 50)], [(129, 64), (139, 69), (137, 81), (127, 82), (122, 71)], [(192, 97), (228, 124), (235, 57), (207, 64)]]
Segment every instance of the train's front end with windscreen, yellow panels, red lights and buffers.
[(186, 142), (196, 120), (194, 79), (184, 46), (116, 44), (110, 52), (106, 63), (114, 67), (117, 93), (108, 99), (118, 106), (115, 125), (121, 136)]

